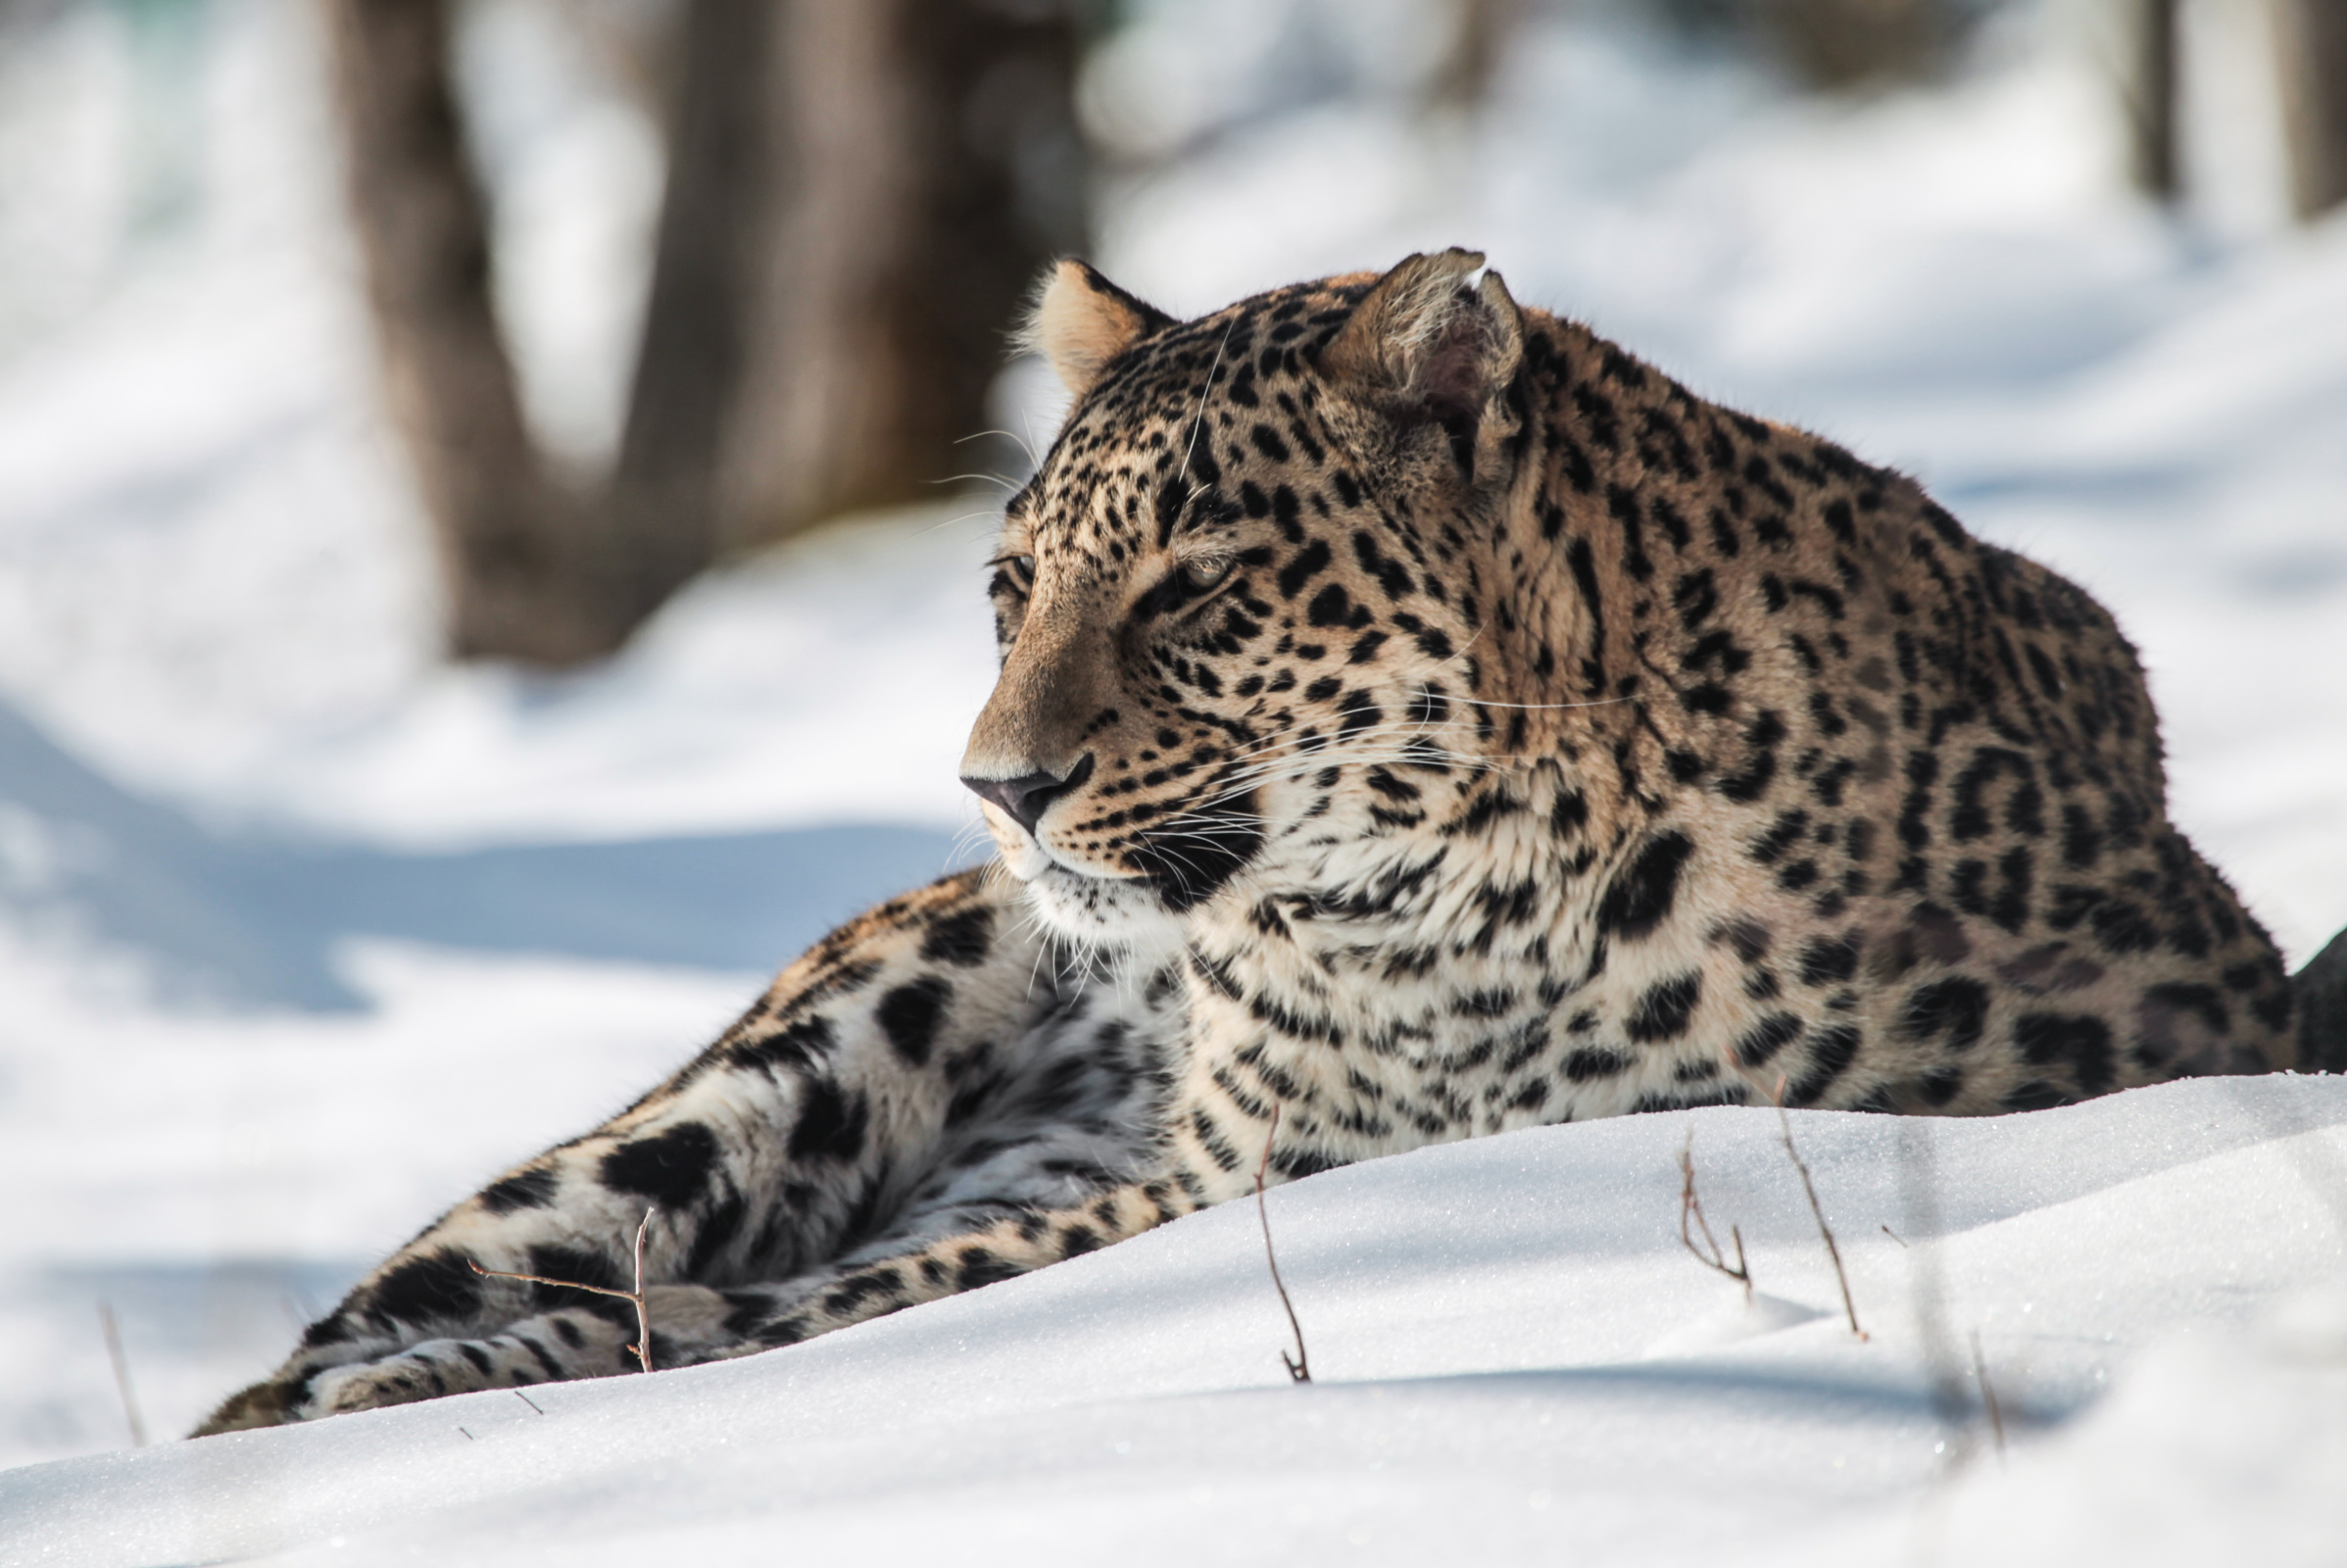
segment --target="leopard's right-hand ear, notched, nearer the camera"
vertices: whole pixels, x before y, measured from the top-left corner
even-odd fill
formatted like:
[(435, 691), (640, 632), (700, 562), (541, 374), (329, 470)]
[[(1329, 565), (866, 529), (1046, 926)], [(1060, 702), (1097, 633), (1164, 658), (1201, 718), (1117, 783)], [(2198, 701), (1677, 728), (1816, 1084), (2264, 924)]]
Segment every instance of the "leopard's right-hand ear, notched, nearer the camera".
[(1523, 312), (1481, 251), (1411, 256), (1378, 279), (1321, 352), (1321, 373), (1401, 425), (1434, 423), (1467, 477), (1516, 432), (1507, 390), (1523, 366)]

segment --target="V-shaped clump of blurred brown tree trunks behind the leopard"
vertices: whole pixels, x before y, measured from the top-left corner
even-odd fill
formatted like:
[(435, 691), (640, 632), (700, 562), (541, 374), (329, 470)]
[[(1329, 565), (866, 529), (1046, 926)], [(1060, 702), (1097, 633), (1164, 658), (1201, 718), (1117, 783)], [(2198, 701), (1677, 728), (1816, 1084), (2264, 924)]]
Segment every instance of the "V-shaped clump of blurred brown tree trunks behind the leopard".
[(455, 657), (606, 655), (728, 552), (934, 498), (1082, 244), (1073, 0), (688, 0), (610, 486), (556, 486), (491, 305), (451, 0), (329, 0), (352, 209)]

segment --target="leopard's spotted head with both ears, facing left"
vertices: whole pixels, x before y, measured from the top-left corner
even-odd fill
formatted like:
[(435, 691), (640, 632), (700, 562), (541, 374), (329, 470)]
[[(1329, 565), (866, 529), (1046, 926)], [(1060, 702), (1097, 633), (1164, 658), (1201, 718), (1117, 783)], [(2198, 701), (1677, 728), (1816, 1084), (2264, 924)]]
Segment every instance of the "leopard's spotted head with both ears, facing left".
[(1030, 340), (1075, 401), (1002, 519), (962, 777), (1063, 934), (1340, 897), (1465, 782), (1523, 432), (1523, 322), (1495, 272), (1467, 286), (1481, 261), (1197, 322), (1044, 277)]

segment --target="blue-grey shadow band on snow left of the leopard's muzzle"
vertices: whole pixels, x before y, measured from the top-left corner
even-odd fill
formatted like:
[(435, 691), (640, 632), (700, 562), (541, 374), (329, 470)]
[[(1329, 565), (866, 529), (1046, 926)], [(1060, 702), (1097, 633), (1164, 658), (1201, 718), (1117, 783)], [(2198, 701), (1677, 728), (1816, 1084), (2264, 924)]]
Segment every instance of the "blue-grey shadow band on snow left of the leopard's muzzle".
[(223, 836), (0, 707), (0, 920), (127, 951), (167, 1000), (364, 1007), (347, 937), (772, 969), (951, 864), (948, 833), (882, 824), (460, 852)]

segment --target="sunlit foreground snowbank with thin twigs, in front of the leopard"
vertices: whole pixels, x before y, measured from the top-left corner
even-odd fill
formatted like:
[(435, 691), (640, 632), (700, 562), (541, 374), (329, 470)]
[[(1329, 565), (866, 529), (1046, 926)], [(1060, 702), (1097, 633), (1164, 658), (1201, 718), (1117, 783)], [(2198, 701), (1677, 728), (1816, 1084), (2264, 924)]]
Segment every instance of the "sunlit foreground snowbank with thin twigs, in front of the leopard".
[[(941, 1547), (2335, 1561), (2347, 1082), (1791, 1127), (1866, 1340), (1772, 1113), (1626, 1117), (1270, 1195), (1310, 1387), (1277, 1361), (1258, 1216), (1227, 1204), (751, 1361), (530, 1390), (542, 1413), (469, 1394), (0, 1474), (0, 1542), (89, 1568)], [(1678, 1246), (1687, 1136), (1706, 1211), (1786, 1303), (1711, 1343), (1687, 1329), (1744, 1307)], [(2145, 1347), (2143, 1376), (2096, 1404)]]

